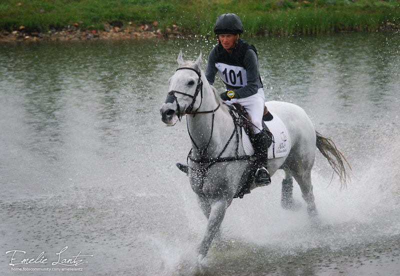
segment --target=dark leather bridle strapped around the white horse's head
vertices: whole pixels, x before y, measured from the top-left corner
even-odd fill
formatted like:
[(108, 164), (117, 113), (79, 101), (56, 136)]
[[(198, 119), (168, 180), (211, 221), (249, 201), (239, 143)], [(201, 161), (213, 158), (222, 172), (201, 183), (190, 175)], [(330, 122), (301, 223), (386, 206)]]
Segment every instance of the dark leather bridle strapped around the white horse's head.
[[(195, 114), (199, 114), (199, 113), (211, 113), (211, 112), (215, 112), (215, 111), (219, 108), (219, 106), (220, 106), (219, 103), (218, 103), (218, 106), (217, 106), (215, 109), (213, 109), (213, 110), (198, 111), (198, 108), (200, 108), (201, 103), (202, 103), (202, 101), (203, 101), (203, 82), (201, 81), (201, 73), (200, 73), (199, 71), (197, 71), (196, 69), (190, 68), (190, 67), (181, 67), (181, 68), (177, 68), (176, 71), (177, 71), (177, 70), (182, 70), (182, 69), (188, 69), (188, 70), (192, 70), (192, 71), (196, 72), (196, 74), (198, 75), (198, 81), (197, 81), (197, 85), (196, 85), (196, 90), (194, 91), (194, 94), (193, 94), (193, 95), (190, 95), (190, 94), (187, 94), (187, 93), (183, 93), (183, 92), (181, 92), (181, 91), (176, 91), (176, 90), (171, 90), (171, 91), (168, 92), (168, 95), (167, 95), (165, 101), (168, 101), (168, 97), (172, 97), (172, 98), (173, 98), (172, 102), (173, 102), (173, 101), (176, 102), (176, 108), (177, 108), (177, 111), (178, 111), (178, 112), (177, 112), (177, 117), (178, 117), (179, 121), (180, 121), (180, 119), (182, 118), (182, 116), (183, 116), (184, 114), (192, 114), (193, 117), (194, 117)], [(187, 108), (186, 108), (184, 111), (181, 111), (181, 110), (180, 110), (180, 106), (179, 106), (179, 103), (178, 103), (178, 100), (177, 100), (177, 98), (176, 98), (175, 93), (182, 94), (182, 95), (185, 95), (185, 96), (188, 96), (188, 97), (191, 97), (191, 98), (192, 98), (191, 103), (189, 104), (189, 106), (187, 106)], [(192, 111), (193, 106), (194, 106), (194, 102), (196, 101), (196, 98), (197, 98), (198, 93), (200, 93), (200, 104), (198, 105), (198, 107), (197, 107), (197, 109), (196, 109), (195, 111)]]

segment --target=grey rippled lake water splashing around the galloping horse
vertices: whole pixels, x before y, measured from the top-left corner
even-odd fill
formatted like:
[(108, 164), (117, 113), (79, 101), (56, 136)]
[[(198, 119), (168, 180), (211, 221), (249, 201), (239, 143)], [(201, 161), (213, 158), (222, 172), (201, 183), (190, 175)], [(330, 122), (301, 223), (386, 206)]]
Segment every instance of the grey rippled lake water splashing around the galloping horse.
[[(266, 99), (304, 108), (352, 165), (340, 191), (317, 153), (319, 227), (295, 182), (301, 208), (281, 208), (278, 171), (233, 200), (196, 261), (206, 220), (174, 165), (190, 147), (185, 119), (165, 127), (158, 110), (179, 50), (194, 60), (214, 41), (0, 44), (0, 274), (400, 275), (400, 36), (247, 41)], [(9, 265), (23, 259), (36, 263)]]

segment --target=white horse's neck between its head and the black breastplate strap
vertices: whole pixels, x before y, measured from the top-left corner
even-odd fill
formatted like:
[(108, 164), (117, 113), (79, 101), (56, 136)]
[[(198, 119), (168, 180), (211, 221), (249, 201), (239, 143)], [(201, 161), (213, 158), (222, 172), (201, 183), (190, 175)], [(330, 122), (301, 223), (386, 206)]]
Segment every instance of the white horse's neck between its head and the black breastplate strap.
[(218, 155), (231, 135), (234, 124), (226, 106), (216, 99), (205, 77), (202, 81), (203, 98), (197, 111), (214, 110), (218, 104), (220, 106), (215, 112), (187, 115), (187, 129), (192, 139), (194, 155), (199, 155), (196, 150), (198, 147), (204, 154), (202, 157), (215, 157), (213, 155)]

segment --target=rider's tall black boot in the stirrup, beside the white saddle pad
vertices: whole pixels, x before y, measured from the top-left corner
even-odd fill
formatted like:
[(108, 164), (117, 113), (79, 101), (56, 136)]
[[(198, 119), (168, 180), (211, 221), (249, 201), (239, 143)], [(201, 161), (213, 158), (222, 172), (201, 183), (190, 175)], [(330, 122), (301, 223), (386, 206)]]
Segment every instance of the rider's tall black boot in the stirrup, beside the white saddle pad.
[(255, 184), (257, 186), (268, 185), (271, 182), (269, 172), (266, 170), (266, 162), (268, 159), (268, 137), (263, 132), (254, 134), (252, 145), (255, 155), (258, 157), (260, 162), (260, 167), (255, 173)]

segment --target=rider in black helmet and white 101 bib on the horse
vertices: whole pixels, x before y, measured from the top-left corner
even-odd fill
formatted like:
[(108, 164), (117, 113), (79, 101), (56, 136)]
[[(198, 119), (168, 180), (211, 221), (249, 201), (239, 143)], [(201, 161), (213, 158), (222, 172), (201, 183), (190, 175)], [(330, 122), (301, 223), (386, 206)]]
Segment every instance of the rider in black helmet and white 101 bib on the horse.
[[(260, 161), (255, 173), (255, 183), (266, 185), (271, 182), (266, 169), (268, 147), (267, 136), (261, 132), (265, 96), (258, 72), (258, 58), (255, 47), (239, 38), (243, 24), (234, 13), (221, 14), (216, 18), (214, 33), (218, 43), (208, 55), (205, 76), (209, 84), (214, 83), (218, 72), (226, 91), (219, 96), (227, 104), (238, 103), (246, 108), (253, 124), (252, 145)], [(184, 170), (182, 164), (176, 164)], [(187, 167), (185, 167), (187, 172)]]

